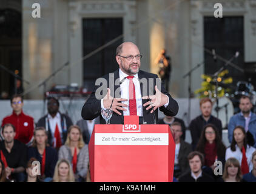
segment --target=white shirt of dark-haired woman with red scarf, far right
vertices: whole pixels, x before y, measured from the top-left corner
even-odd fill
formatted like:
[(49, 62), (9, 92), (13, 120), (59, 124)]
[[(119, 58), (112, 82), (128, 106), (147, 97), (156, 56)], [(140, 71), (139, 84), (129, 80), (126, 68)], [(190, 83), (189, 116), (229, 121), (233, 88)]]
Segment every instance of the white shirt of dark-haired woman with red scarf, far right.
[[(247, 146), (246, 148), (246, 152), (245, 152), (245, 155), (246, 155), (246, 158), (247, 158), (247, 163), (248, 163), (248, 166), (249, 166), (249, 171), (251, 172), (252, 170), (252, 153), (254, 153), (256, 149), (252, 146)], [(233, 152), (231, 150), (231, 147), (227, 148), (226, 150), (226, 156), (225, 156), (225, 159), (227, 161), (227, 159), (229, 158), (237, 158), (237, 160), (240, 162), (240, 165), (241, 165), (241, 162), (242, 162), (242, 158), (243, 158), (243, 153), (241, 152), (240, 148), (237, 146), (237, 144), (235, 145), (235, 152)]]

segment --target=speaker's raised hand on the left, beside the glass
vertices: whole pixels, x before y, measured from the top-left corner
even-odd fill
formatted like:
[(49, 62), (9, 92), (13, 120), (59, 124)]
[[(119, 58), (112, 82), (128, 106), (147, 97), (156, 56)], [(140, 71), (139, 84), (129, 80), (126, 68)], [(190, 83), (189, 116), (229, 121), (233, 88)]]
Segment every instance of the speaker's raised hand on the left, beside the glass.
[[(113, 101), (113, 103), (112, 103)], [(110, 89), (107, 89), (107, 94), (103, 98), (103, 105), (105, 109), (113, 110), (113, 112), (117, 113), (118, 115), (122, 115), (118, 110), (126, 111), (123, 107), (127, 107), (127, 104), (121, 103), (121, 101), (128, 101), (128, 99), (125, 98), (113, 98), (110, 96)], [(110, 107), (112, 104), (112, 107)]]

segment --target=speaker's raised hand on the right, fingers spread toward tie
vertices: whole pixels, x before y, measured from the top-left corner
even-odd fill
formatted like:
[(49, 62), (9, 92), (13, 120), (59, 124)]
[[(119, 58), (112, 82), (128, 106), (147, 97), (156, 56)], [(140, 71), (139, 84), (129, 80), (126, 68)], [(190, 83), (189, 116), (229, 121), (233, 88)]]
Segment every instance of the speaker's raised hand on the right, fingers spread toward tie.
[(164, 93), (161, 93), (160, 90), (158, 90), (157, 85), (155, 86), (155, 95), (152, 96), (143, 96), (142, 99), (149, 99), (149, 102), (146, 102), (143, 104), (145, 107), (146, 105), (149, 105), (146, 110), (152, 109), (150, 113), (153, 113), (153, 111), (157, 110), (158, 107), (161, 107), (162, 105), (166, 104), (168, 102), (168, 96)]

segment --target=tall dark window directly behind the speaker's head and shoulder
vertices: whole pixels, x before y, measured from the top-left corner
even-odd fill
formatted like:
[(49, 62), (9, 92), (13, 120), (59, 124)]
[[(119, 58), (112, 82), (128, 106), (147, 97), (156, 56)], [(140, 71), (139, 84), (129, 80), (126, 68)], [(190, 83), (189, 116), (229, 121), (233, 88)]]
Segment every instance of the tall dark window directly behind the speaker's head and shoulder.
[[(122, 18), (83, 19), (83, 55), (87, 55), (98, 47), (123, 34)], [(116, 47), (123, 42), (120, 39), (105, 49), (84, 60), (84, 87), (93, 90), (94, 82), (100, 76), (113, 72), (118, 64), (115, 60)]]

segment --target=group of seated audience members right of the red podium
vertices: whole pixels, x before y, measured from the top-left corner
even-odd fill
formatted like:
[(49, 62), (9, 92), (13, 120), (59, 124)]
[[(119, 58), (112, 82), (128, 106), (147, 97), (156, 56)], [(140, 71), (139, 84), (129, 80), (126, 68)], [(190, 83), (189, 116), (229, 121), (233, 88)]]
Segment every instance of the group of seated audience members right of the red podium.
[(192, 144), (184, 142), (184, 122), (174, 117), (160, 121), (169, 124), (175, 137), (173, 181), (256, 182), (256, 119), (248, 96), (240, 99), (241, 112), (231, 117), (228, 139), (223, 144), (220, 119), (211, 115), (212, 101), (200, 101), (201, 115), (190, 122)]

